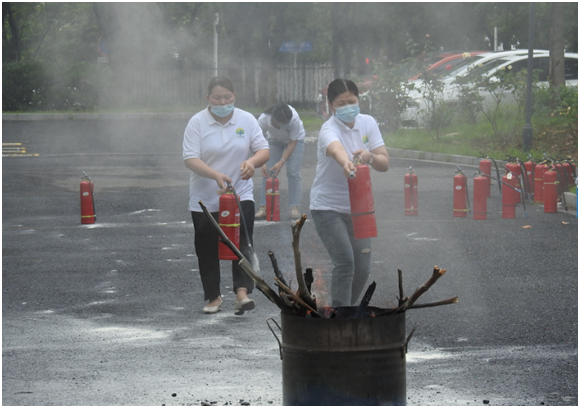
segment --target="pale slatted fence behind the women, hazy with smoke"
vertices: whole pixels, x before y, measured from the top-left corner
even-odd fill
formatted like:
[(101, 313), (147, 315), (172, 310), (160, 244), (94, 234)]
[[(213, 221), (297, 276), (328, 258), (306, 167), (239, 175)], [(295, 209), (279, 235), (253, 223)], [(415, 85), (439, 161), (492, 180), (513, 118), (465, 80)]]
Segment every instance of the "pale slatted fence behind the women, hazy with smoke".
[[(258, 102), (259, 89), (264, 84), (262, 69), (224, 68), (220, 75), (234, 83), (236, 94), (248, 103)], [(316, 102), (321, 88), (332, 81), (334, 70), (329, 64), (301, 64), (277, 68), (276, 97), (279, 101)], [(122, 85), (115, 85), (111, 95), (124, 103), (159, 105), (163, 103), (199, 104), (205, 98), (213, 69), (135, 69)]]

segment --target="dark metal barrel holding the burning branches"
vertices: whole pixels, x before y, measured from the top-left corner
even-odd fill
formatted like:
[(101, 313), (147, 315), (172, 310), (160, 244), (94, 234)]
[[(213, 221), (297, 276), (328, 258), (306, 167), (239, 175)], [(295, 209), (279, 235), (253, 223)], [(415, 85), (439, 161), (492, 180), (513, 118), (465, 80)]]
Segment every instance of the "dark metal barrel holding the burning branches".
[(284, 405), (406, 405), (405, 313), (281, 319)]

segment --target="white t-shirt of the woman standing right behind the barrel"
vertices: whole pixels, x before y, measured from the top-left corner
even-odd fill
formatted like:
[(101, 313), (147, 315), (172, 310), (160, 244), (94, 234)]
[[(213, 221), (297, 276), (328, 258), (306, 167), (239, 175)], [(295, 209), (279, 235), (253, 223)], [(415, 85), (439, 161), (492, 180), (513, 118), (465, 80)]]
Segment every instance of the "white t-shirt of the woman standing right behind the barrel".
[(356, 116), (352, 129), (335, 116), (328, 119), (320, 129), (318, 164), (310, 191), (310, 209), (350, 214), (348, 179), (336, 160), (326, 155), (326, 148), (334, 141), (342, 143), (351, 160), (352, 152), (359, 149), (371, 151), (383, 146), (385, 142), (375, 119), (361, 113)]

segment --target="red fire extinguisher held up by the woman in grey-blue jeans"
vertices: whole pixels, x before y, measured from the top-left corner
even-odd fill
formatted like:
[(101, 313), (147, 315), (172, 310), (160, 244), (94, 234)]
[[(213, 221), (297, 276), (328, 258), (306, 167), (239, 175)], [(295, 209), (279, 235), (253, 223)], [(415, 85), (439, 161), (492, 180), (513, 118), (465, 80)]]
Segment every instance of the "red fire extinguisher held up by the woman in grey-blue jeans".
[(356, 176), (348, 179), (348, 193), (354, 237), (356, 239), (376, 237), (377, 222), (369, 166), (366, 164), (356, 166)]

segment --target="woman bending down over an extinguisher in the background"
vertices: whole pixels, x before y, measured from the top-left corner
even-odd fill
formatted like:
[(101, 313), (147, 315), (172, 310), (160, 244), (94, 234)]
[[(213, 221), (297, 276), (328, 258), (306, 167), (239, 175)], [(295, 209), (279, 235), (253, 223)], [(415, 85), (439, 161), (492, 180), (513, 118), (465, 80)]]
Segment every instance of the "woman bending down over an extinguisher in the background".
[(304, 155), (304, 125), (296, 110), (285, 103), (279, 103), (266, 109), (258, 118), (258, 123), (270, 145), (270, 160), (262, 166), (262, 188), (260, 190), (260, 210), (256, 219), (266, 218), (266, 179), (271, 173), (276, 176), (286, 165), (288, 177), (288, 204), (290, 218), (302, 217), (300, 201), (302, 200), (302, 177), (300, 167)]

